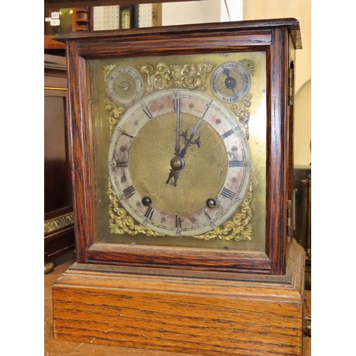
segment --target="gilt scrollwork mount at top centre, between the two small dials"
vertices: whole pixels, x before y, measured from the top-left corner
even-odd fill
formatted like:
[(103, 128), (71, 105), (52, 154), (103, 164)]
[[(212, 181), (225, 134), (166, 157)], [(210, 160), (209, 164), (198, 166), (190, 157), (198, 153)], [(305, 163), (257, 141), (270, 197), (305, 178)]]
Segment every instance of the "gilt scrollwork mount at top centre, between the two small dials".
[(206, 91), (205, 80), (214, 65), (211, 63), (186, 63), (184, 65), (158, 63), (156, 68), (150, 64), (138, 67), (147, 78), (147, 92), (170, 88), (199, 89)]

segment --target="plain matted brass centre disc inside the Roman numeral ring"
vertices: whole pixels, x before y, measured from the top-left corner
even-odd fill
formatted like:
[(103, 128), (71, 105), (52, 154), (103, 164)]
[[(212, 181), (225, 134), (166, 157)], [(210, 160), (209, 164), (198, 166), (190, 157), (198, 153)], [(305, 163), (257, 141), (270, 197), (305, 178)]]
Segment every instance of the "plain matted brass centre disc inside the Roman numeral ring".
[[(194, 127), (196, 122), (196, 116), (182, 113), (182, 128)], [(132, 140), (129, 172), (137, 193), (150, 197), (157, 209), (169, 214), (188, 214), (204, 207), (206, 196), (216, 197), (221, 191), (228, 170), (227, 155), (216, 131), (201, 122), (199, 128), (204, 137), (201, 147), (189, 146), (184, 158), (172, 157), (175, 128), (174, 112), (147, 122)], [(157, 132), (161, 132), (159, 140)], [(166, 183), (169, 169), (179, 172), (177, 187), (173, 179)]]

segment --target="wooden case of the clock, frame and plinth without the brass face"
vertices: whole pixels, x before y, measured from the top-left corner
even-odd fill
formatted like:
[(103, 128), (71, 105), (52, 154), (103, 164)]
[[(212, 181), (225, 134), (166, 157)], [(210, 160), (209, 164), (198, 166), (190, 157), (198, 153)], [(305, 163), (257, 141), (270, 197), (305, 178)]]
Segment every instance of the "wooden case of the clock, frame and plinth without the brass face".
[[(53, 286), (55, 337), (201, 355), (301, 355), (305, 253), (290, 237), (298, 21), (97, 31), (54, 39), (66, 42), (68, 55), (78, 256)], [(85, 159), (90, 157), (85, 60), (211, 50), (266, 51), (265, 251), (226, 254), (95, 243), (91, 168)]]

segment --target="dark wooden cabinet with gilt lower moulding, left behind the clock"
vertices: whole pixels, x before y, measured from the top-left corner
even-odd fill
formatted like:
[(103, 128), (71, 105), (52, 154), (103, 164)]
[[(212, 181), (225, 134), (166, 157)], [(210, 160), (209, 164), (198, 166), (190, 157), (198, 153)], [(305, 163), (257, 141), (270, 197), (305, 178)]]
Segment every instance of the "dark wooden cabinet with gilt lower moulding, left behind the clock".
[[(73, 250), (66, 57), (44, 55), (44, 262)], [(46, 265), (45, 265), (46, 266)], [(45, 268), (46, 271), (46, 268)]]

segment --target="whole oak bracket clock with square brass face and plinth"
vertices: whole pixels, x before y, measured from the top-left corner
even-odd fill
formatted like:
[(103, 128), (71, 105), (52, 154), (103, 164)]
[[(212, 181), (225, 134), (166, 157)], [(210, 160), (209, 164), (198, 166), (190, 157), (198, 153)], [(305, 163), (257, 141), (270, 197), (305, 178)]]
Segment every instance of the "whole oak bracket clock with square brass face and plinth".
[(67, 48), (78, 256), (53, 286), (55, 337), (301, 355), (298, 21), (54, 39)]

